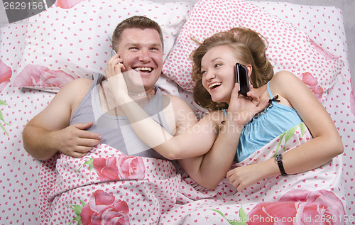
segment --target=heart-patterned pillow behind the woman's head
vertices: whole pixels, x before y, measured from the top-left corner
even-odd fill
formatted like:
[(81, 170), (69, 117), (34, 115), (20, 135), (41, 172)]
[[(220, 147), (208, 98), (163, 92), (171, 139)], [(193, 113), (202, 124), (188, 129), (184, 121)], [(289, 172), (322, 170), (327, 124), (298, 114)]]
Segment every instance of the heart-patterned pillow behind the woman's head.
[(189, 56), (214, 33), (234, 27), (251, 28), (268, 40), (266, 51), (275, 72), (288, 70), (311, 87), (319, 99), (331, 88), (343, 67), (339, 57), (328, 53), (294, 26), (242, 0), (200, 0), (163, 66), (163, 73), (192, 92), (192, 61)]

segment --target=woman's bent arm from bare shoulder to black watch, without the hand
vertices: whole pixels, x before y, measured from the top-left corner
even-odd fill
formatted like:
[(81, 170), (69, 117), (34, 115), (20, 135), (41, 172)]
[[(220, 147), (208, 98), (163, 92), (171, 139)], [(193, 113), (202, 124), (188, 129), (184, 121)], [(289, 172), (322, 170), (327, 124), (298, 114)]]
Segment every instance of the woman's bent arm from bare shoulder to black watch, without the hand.
[(288, 99), (313, 136), (312, 140), (285, 155), (286, 172), (312, 170), (343, 153), (342, 138), (332, 118), (300, 79), (290, 72), (282, 72), (272, 85), (280, 89), (280, 95)]

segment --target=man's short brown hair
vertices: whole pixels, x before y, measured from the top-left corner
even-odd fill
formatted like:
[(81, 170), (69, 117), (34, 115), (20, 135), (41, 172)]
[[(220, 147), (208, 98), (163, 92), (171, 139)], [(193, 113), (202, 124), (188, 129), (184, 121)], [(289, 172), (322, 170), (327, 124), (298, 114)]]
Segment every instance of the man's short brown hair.
[(127, 28), (140, 28), (142, 30), (151, 28), (155, 31), (158, 31), (161, 43), (164, 48), (163, 33), (159, 24), (146, 16), (132, 16), (130, 18), (126, 18), (124, 21), (121, 21), (121, 23), (116, 26), (114, 33), (112, 34), (112, 48), (115, 49), (115, 46), (119, 45), (119, 42), (121, 41), (121, 35)]

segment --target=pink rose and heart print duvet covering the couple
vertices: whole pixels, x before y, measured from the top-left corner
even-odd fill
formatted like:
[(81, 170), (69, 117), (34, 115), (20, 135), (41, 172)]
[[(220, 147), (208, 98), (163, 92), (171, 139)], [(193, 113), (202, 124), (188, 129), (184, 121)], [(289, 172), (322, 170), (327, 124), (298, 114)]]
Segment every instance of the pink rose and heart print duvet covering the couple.
[[(295, 126), (235, 166), (272, 158), (312, 138)], [(236, 192), (205, 190), (173, 163), (100, 144), (84, 158), (42, 164), (42, 224), (345, 224), (342, 158)], [(180, 173), (182, 175), (180, 175)]]

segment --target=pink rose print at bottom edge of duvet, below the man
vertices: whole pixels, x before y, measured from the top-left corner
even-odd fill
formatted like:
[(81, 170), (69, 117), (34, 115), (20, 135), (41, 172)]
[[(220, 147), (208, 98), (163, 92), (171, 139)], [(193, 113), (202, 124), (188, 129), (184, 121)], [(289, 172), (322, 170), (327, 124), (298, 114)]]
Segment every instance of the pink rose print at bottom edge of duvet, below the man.
[(86, 224), (129, 224), (129, 207), (103, 190), (95, 191), (82, 207), (80, 221)]

